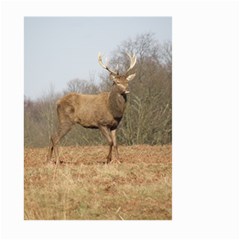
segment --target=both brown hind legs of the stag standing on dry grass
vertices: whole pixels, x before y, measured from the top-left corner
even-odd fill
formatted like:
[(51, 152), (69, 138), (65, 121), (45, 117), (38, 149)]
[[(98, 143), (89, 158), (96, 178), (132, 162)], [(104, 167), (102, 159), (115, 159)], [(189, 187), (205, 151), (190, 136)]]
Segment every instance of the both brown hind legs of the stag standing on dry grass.
[(60, 123), (57, 132), (54, 135), (52, 135), (50, 139), (50, 146), (49, 146), (49, 152), (48, 152), (48, 159), (47, 159), (48, 162), (51, 160), (52, 153), (54, 152), (56, 163), (59, 164), (59, 152), (58, 152), (57, 144), (71, 130), (72, 125), (73, 124), (71, 122)]

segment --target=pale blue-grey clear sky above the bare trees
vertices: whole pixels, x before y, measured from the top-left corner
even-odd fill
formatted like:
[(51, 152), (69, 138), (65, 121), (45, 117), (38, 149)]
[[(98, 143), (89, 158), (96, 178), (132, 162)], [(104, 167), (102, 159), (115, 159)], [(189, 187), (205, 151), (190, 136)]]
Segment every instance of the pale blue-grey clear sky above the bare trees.
[(171, 17), (25, 17), (24, 95), (66, 89), (72, 79), (98, 78), (98, 52), (108, 56), (139, 34), (172, 40)]

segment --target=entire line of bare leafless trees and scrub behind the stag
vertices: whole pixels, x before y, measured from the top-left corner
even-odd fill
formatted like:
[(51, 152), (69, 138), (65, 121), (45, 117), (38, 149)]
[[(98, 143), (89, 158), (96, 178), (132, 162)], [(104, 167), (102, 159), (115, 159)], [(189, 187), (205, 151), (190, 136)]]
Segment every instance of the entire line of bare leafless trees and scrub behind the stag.
[[(172, 142), (172, 44), (160, 43), (147, 33), (122, 42), (112, 52), (109, 65), (121, 72), (129, 66), (126, 52), (137, 56), (136, 77), (129, 83), (130, 94), (118, 128), (120, 144), (168, 144)], [(68, 92), (95, 94), (109, 91), (112, 82), (103, 72), (99, 81), (73, 79), (62, 93), (49, 92), (37, 100), (24, 98), (24, 144), (45, 147), (57, 127), (56, 101)], [(105, 144), (96, 130), (75, 126), (62, 145)]]

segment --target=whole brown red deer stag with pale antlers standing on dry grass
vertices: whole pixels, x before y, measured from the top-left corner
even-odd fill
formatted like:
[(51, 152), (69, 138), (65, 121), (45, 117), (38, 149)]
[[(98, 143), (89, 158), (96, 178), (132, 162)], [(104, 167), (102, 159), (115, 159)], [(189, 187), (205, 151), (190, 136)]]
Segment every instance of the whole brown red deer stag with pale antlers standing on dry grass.
[(119, 74), (109, 69), (102, 62), (101, 54), (98, 54), (99, 64), (110, 73), (113, 81), (110, 92), (102, 92), (96, 95), (85, 95), (69, 93), (57, 101), (58, 129), (50, 139), (47, 162), (50, 162), (54, 152), (56, 163), (59, 164), (59, 153), (57, 144), (76, 123), (85, 128), (99, 129), (106, 137), (109, 144), (107, 163), (112, 160), (112, 147), (116, 150), (118, 159), (118, 148), (116, 140), (116, 129), (123, 117), (126, 107), (128, 82), (134, 79), (136, 73), (130, 71), (136, 64), (136, 57), (129, 55), (130, 67), (125, 74)]

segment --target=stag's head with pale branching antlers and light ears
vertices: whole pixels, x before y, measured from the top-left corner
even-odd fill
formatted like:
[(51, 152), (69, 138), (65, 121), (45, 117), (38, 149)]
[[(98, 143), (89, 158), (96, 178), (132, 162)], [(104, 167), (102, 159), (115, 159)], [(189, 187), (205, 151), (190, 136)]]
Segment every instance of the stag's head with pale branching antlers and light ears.
[(130, 67), (127, 69), (127, 71), (124, 74), (119, 74), (118, 71), (117, 72), (112, 71), (107, 65), (103, 64), (102, 56), (100, 53), (98, 54), (99, 64), (110, 73), (110, 79), (114, 82), (114, 84), (116, 84), (116, 86), (118, 87), (118, 90), (122, 94), (129, 93), (128, 82), (133, 80), (136, 76), (136, 73), (132, 73), (132, 74), (129, 74), (129, 73), (136, 65), (137, 58), (135, 55), (131, 56), (128, 53), (127, 55), (130, 58)]

